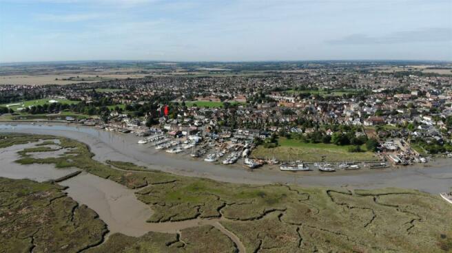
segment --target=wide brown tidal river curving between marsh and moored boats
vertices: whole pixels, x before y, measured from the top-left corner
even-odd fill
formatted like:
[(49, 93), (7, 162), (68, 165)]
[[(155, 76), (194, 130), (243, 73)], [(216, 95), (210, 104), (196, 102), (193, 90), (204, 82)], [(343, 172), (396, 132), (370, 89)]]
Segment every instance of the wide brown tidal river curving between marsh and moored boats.
[[(438, 159), (429, 164), (382, 170), (362, 169), (322, 174), (317, 171), (286, 173), (277, 169), (245, 170), (240, 166), (210, 164), (189, 155), (170, 155), (149, 145), (138, 145), (138, 137), (94, 129), (74, 124), (1, 123), (3, 133), (37, 133), (70, 137), (84, 142), (94, 153), (94, 159), (134, 162), (152, 169), (193, 177), (208, 177), (218, 181), (243, 184), (289, 183), (302, 186), (347, 185), (349, 188), (413, 188), (437, 194), (452, 186), (452, 159)], [(0, 154), (1, 155), (1, 154)]]

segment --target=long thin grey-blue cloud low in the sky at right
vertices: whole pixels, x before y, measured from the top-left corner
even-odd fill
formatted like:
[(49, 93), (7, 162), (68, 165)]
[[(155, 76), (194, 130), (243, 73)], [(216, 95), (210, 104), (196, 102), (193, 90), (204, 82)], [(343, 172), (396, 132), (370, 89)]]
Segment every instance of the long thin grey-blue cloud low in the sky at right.
[(452, 28), (424, 28), (419, 30), (393, 32), (383, 36), (351, 34), (342, 39), (327, 41), (327, 43), (333, 45), (374, 45), (444, 41), (452, 41)]

